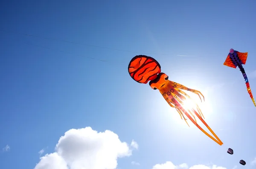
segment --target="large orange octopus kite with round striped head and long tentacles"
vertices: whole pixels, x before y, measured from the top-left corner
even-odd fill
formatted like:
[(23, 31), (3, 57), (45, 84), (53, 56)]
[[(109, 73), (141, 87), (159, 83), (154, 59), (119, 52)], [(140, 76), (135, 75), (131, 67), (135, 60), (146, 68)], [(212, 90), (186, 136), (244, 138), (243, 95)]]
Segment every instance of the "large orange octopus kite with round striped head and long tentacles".
[[(198, 127), (204, 134), (206, 134), (213, 141), (222, 145), (222, 141), (218, 138), (218, 136), (212, 131), (212, 129), (207, 125), (204, 121), (204, 115), (202, 114), (198, 104), (195, 103), (196, 108), (185, 108), (184, 104), (186, 104), (186, 100), (190, 100), (190, 96), (187, 95), (183, 90), (191, 91), (199, 96), (204, 98), (202, 93), (198, 90), (190, 89), (186, 86), (180, 85), (179, 83), (172, 82), (169, 80), (169, 76), (165, 73), (161, 73), (160, 64), (152, 57), (145, 55), (138, 55), (131, 59), (128, 65), (128, 72), (132, 79), (136, 82), (147, 84), (154, 90), (159, 90), (162, 94), (163, 98), (167, 101), (167, 103), (175, 108), (177, 112), (180, 114), (181, 119), (183, 118), (188, 124), (187, 119), (184, 117), (184, 114)], [(201, 94), (201, 96), (200, 96)], [(202, 100), (201, 100), (202, 101)], [(213, 138), (209, 133), (207, 133), (204, 129), (202, 129), (196, 122), (196, 115), (203, 124), (208, 128), (208, 130), (214, 135)], [(189, 124), (188, 124), (189, 125)]]

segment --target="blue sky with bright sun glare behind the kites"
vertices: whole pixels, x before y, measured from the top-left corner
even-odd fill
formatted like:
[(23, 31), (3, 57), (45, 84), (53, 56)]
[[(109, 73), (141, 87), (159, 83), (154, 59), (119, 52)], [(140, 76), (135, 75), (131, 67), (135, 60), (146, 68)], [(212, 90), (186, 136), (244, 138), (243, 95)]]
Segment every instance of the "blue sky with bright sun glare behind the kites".
[[(1, 166), (33, 169), (41, 149), (41, 156), (58, 151), (65, 132), (91, 127), (113, 131), (132, 149), (117, 159), (118, 169), (166, 161), (253, 168), (256, 107), (239, 69), (223, 62), (230, 48), (248, 52), (244, 69), (256, 96), (255, 6), (253, 0), (1, 2), (0, 147), (9, 146), (0, 152)], [(205, 95), (203, 113), (223, 146), (187, 127), (158, 91), (131, 79), (127, 67), (137, 54), (154, 57), (170, 80)]]

